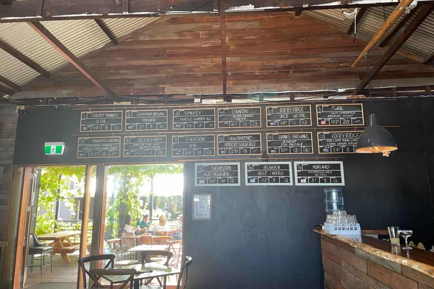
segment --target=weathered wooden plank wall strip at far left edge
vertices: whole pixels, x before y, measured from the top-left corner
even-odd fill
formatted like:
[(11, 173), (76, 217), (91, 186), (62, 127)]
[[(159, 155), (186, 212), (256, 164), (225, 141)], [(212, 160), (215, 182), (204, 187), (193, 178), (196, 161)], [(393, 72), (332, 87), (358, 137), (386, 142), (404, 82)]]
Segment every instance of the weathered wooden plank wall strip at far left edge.
[(12, 180), (12, 160), (15, 147), (18, 114), (15, 105), (0, 104), (0, 167), (3, 175), (0, 184), (0, 240), (5, 239), (9, 189)]

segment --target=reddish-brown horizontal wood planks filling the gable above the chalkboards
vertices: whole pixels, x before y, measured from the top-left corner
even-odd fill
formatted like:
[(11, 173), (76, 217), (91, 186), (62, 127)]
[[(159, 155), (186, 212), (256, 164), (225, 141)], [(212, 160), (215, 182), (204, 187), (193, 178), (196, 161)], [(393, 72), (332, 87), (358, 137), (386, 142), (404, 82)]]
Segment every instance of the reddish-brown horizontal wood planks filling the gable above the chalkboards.
[[(301, 13), (225, 16), (227, 93), (355, 88), (365, 60), (351, 68), (366, 42)], [(372, 66), (385, 48), (374, 47)], [(99, 52), (83, 63), (115, 94), (221, 94), (222, 41), (218, 16), (179, 17)], [(393, 56), (373, 86), (424, 85), (434, 68)], [(39, 77), (11, 99), (92, 97), (106, 93), (72, 65)]]

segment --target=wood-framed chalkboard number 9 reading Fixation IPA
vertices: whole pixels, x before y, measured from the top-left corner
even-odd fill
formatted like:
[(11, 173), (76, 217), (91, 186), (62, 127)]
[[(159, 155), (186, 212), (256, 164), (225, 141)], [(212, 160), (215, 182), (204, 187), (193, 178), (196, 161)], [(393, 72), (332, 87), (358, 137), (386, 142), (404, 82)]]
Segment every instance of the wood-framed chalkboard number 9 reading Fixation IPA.
[(215, 156), (215, 135), (172, 136), (172, 156)]

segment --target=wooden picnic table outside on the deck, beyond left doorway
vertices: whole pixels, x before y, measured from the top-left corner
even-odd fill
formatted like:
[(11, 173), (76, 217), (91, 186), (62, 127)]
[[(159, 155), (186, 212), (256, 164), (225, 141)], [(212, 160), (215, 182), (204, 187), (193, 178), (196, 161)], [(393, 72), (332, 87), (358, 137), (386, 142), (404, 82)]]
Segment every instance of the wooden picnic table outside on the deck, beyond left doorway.
[(68, 253), (73, 253), (77, 248), (80, 247), (80, 243), (73, 243), (69, 237), (74, 237), (80, 235), (81, 231), (63, 231), (50, 234), (43, 234), (37, 236), (39, 240), (52, 240), (53, 243), (53, 253), (59, 253), (62, 256), (62, 260), (65, 263), (71, 263), (68, 257)]

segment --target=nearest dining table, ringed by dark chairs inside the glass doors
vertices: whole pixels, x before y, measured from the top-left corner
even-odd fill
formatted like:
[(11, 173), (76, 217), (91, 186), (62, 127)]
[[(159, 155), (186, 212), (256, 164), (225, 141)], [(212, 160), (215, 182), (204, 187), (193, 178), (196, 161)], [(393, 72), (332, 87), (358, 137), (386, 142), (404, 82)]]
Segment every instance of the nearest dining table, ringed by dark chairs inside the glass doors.
[[(176, 268), (171, 268), (165, 265), (161, 265), (156, 262), (145, 263), (145, 264), (137, 264), (130, 266), (122, 266), (122, 269), (135, 269), (137, 273), (134, 275), (134, 289), (138, 289), (140, 285), (140, 280), (149, 279), (148, 282), (145, 282), (145, 285), (151, 282), (152, 279), (158, 277), (164, 277), (163, 288), (166, 288), (166, 277), (170, 275), (178, 275), (181, 273), (181, 270)], [(101, 275), (101, 278), (106, 279), (107, 281), (116, 284), (125, 282), (129, 276), (128, 275)], [(160, 280), (158, 279), (160, 282)]]

